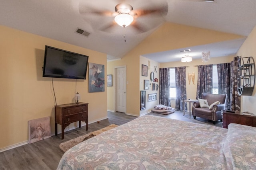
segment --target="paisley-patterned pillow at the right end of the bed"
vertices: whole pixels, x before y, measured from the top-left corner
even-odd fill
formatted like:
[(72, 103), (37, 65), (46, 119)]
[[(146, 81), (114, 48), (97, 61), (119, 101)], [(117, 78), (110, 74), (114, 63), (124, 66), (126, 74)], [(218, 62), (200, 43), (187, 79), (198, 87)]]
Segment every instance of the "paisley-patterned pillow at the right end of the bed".
[(228, 169), (256, 169), (256, 127), (229, 124), (223, 151)]

